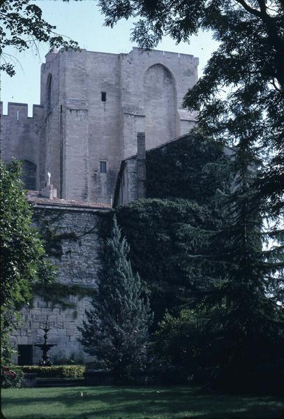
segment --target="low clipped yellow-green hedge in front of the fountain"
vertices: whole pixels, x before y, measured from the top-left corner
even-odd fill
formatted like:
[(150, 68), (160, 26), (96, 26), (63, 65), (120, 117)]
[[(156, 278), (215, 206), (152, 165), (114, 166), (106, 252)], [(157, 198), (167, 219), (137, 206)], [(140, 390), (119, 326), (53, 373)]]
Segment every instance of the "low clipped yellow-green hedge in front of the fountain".
[(37, 365), (24, 365), (23, 372), (38, 374), (39, 378), (82, 378), (84, 376), (84, 365), (54, 365), (52, 367), (38, 367)]

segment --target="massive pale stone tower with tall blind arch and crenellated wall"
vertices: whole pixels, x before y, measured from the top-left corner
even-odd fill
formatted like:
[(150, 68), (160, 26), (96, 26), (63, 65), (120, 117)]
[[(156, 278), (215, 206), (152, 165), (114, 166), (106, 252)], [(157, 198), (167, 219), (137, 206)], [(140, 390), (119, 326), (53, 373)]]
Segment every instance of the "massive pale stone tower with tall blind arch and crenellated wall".
[[(3, 159), (23, 159), (29, 189), (47, 172), (59, 198), (110, 203), (121, 160), (190, 131), (195, 115), (181, 108), (197, 82), (198, 59), (133, 48), (128, 54), (59, 50), (41, 67), (40, 105), (10, 103), (1, 118)], [(29, 151), (28, 151), (29, 150)]]

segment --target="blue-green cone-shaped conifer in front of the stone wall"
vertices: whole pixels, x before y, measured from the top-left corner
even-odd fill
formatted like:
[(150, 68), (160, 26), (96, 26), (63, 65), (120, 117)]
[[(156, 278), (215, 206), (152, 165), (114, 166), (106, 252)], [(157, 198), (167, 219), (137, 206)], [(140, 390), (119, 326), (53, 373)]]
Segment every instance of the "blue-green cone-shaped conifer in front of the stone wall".
[(128, 260), (129, 247), (114, 217), (101, 252), (102, 267), (92, 307), (86, 311), (80, 339), (85, 351), (119, 376), (144, 367), (147, 358), (149, 302)]

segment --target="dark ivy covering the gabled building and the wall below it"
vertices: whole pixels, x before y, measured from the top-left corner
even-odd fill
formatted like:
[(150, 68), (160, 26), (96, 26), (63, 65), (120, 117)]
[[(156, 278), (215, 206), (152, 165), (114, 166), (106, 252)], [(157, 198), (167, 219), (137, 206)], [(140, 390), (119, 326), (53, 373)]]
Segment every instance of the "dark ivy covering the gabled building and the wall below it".
[[(206, 253), (205, 231), (218, 229), (216, 191), (230, 186), (223, 149), (200, 133), (146, 152), (147, 199), (119, 205), (114, 212), (130, 244), (130, 260), (149, 292), (155, 320), (175, 311), (193, 292), (197, 254)], [(102, 237), (111, 214), (103, 214)], [(202, 232), (202, 230), (205, 230)], [(218, 244), (217, 244), (218, 245)], [(208, 272), (210, 274), (210, 263)]]

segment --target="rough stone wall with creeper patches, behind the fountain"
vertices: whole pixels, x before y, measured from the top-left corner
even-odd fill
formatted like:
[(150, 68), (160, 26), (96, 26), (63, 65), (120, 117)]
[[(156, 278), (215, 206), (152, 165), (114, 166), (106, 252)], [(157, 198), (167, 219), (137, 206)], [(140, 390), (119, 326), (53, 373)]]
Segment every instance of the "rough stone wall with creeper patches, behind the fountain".
[[(72, 210), (58, 207), (33, 208), (33, 223), (45, 242), (50, 260), (57, 266), (56, 283), (35, 292), (33, 303), (22, 310), (23, 322), (11, 337), (19, 344), (42, 344), (42, 325), (50, 325), (48, 343), (57, 344), (51, 349), (54, 359), (76, 358), (87, 355), (77, 341), (84, 311), (89, 307), (96, 274), (100, 267), (98, 248), (98, 212)], [(56, 304), (60, 299), (63, 304)], [(40, 349), (33, 347), (33, 362), (40, 359)]]

